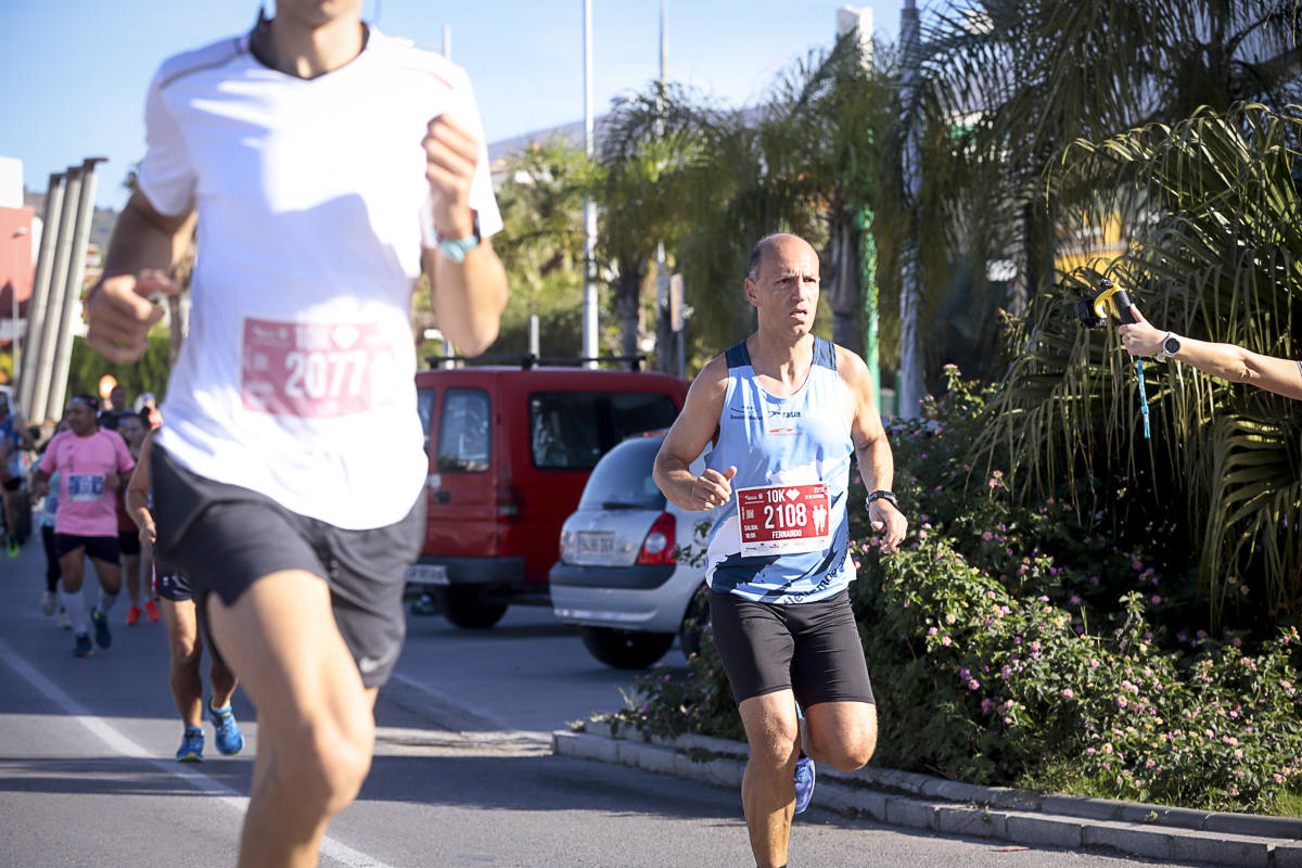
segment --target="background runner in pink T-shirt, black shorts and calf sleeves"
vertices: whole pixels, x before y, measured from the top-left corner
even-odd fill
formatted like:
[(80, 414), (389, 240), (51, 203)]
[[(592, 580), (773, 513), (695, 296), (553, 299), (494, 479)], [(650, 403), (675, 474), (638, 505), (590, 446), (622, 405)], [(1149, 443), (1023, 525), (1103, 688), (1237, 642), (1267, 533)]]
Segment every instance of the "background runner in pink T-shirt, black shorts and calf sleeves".
[[(96, 410), (99, 402), (89, 396), (79, 394), (68, 402), (68, 431), (49, 441), (35, 480), (36, 493), (44, 495), (51, 474), (60, 471), (55, 550), (64, 580), (60, 599), (77, 634), (76, 657), (91, 652), (91, 623), (95, 626), (95, 644), (108, 648), (113, 642), (108, 631), (108, 612), (122, 588), (122, 573), (117, 565), (115, 492), (135, 467), (126, 441), (117, 432), (100, 429), (95, 422)], [(87, 554), (99, 579), (99, 605), (91, 608), (89, 616), (81, 590)]]

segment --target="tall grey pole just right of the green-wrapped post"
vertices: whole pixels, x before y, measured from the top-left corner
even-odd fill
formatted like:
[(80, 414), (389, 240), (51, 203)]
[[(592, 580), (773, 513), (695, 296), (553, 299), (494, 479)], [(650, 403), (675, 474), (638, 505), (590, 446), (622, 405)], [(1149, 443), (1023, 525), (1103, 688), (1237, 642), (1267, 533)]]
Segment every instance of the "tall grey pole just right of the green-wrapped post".
[(896, 389), (900, 416), (918, 416), (922, 400), (922, 354), (918, 347), (918, 306), (922, 297), (918, 267), (918, 190), (922, 187), (922, 167), (918, 150), (918, 66), (922, 60), (918, 36), (917, 0), (905, 0), (900, 10), (900, 43), (904, 53), (901, 112), (904, 125), (902, 176), (907, 203), (907, 230), (900, 269), (900, 370)]

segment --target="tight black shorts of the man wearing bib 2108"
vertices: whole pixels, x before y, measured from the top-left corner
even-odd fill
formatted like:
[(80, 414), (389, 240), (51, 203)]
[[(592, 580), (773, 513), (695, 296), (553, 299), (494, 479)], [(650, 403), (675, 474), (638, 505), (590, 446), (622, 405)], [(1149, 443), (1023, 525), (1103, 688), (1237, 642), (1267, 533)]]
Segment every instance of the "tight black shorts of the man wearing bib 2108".
[(779, 690), (801, 708), (875, 701), (848, 591), (785, 605), (711, 591), (710, 626), (738, 703)]

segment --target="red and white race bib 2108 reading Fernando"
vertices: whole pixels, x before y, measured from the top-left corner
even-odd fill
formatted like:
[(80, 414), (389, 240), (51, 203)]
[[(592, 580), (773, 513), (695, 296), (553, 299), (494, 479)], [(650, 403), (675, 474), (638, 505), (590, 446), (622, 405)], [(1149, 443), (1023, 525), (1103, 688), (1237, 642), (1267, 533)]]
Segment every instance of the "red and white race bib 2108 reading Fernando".
[(742, 557), (819, 552), (831, 544), (827, 483), (737, 489)]

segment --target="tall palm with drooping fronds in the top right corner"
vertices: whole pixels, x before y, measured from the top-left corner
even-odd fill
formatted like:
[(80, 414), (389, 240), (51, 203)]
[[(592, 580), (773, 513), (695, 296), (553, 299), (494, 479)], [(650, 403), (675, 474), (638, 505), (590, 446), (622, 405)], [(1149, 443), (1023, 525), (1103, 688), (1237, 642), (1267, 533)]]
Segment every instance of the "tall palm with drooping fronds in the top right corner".
[[(1297, 0), (939, 4), (924, 22), (922, 87), (904, 107), (905, 125), (923, 129), (913, 224), (909, 211), (900, 216), (923, 239), (922, 284), (966, 272), (978, 334), (992, 334), (1000, 307), (1025, 315), (1053, 282), (1061, 226), (1092, 197), (1046, 195), (1062, 147), (1173, 124), (1199, 105), (1282, 105), (1297, 92)], [(1010, 286), (987, 275), (993, 260), (1014, 264)], [(928, 370), (935, 347), (915, 350)]]

